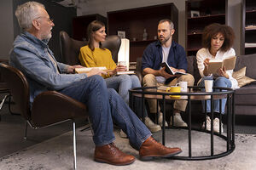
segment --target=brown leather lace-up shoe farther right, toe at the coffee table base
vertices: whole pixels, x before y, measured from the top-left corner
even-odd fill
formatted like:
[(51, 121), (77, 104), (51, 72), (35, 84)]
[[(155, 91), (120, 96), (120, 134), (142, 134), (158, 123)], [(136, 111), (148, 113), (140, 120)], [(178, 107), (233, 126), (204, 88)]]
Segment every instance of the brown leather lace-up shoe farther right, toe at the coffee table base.
[(181, 152), (180, 148), (167, 148), (151, 136), (143, 142), (139, 150), (140, 159), (143, 161), (152, 160), (156, 157), (171, 157)]

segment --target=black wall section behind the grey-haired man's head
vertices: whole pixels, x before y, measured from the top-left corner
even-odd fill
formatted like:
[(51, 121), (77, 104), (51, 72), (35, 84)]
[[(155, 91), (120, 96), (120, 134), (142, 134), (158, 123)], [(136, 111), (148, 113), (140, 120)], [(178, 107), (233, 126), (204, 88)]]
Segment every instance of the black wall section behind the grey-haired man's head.
[[(52, 30), (52, 37), (49, 40), (49, 48), (54, 52), (55, 59), (62, 62), (61, 51), (60, 51), (60, 31), (67, 31), (68, 35), (72, 34), (72, 20), (76, 17), (76, 8), (63, 7), (60, 4), (52, 3), (45, 0), (34, 0), (38, 3), (43, 3), (50, 18), (54, 19), (55, 27)], [(20, 26), (15, 17), (15, 10), (18, 5), (28, 2), (27, 0), (13, 0), (14, 8), (14, 36), (20, 34)]]

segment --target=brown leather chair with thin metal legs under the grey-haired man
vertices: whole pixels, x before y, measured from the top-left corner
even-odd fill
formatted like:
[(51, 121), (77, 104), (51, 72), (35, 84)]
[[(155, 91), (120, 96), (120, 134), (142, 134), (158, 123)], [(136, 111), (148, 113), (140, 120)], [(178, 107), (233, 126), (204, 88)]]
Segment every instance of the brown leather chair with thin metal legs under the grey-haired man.
[(68, 120), (73, 122), (73, 167), (76, 169), (75, 119), (89, 117), (86, 106), (67, 95), (56, 91), (46, 91), (38, 94), (31, 107), (29, 85), (22, 72), (2, 63), (0, 64), (0, 71), (4, 82), (7, 82), (17, 108), (20, 110), (19, 112), (32, 128), (47, 127)]

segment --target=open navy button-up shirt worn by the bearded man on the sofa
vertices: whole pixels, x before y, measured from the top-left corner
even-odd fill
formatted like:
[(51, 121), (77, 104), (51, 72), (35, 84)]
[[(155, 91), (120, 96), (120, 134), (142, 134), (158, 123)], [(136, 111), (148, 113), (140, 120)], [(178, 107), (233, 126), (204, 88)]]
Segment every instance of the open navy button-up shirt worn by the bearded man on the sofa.
[[(160, 41), (158, 40), (156, 42), (152, 42), (144, 50), (142, 69), (144, 70), (145, 68), (151, 68), (154, 70), (160, 70), (162, 59), (163, 54)], [(188, 62), (185, 50), (181, 45), (177, 44), (177, 42), (172, 41), (167, 63), (176, 69), (183, 69), (187, 71)]]

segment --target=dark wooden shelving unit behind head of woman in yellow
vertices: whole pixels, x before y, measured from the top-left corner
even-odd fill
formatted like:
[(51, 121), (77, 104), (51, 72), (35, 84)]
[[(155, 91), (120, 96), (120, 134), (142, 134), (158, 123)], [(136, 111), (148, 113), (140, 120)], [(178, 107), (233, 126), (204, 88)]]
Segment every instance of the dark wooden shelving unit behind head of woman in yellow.
[(107, 18), (101, 14), (89, 14), (73, 18), (73, 38), (79, 41), (87, 40), (87, 26), (93, 20), (100, 20), (107, 26)]

